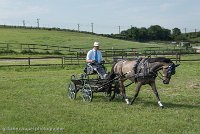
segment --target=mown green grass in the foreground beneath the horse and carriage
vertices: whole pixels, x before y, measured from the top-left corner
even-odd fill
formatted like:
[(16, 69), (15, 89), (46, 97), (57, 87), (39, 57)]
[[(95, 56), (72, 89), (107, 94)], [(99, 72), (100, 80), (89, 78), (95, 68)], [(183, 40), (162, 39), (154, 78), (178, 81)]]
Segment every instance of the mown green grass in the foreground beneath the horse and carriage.
[[(200, 132), (200, 63), (181, 63), (169, 85), (157, 79), (165, 106), (160, 109), (149, 86), (132, 106), (121, 99), (109, 102), (102, 93), (92, 103), (67, 98), (67, 83), (83, 66), (0, 68), (0, 133), (4, 128), (64, 128), (63, 133), (177, 133)], [(108, 68), (110, 68), (108, 66)], [(127, 88), (132, 97), (135, 85)], [(49, 131), (30, 131), (49, 133)], [(53, 133), (57, 133), (54, 131)]]

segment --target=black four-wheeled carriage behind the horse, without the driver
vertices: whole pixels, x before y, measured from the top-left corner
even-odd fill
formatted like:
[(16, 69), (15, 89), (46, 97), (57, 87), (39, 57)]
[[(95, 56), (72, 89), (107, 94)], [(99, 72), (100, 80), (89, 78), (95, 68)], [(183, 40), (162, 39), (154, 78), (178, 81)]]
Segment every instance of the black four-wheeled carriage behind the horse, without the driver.
[[(109, 97), (111, 96), (112, 91), (117, 90), (116, 79), (101, 79), (95, 71), (92, 70), (92, 73), (88, 73), (87, 70), (90, 70), (90, 68), (86, 65), (83, 74), (71, 76), (71, 80), (68, 84), (68, 97), (70, 99), (74, 100), (78, 91), (80, 91), (83, 100), (91, 102), (93, 99), (93, 93), (103, 92), (105, 96)], [(91, 78), (91, 75), (96, 75), (96, 77)]]

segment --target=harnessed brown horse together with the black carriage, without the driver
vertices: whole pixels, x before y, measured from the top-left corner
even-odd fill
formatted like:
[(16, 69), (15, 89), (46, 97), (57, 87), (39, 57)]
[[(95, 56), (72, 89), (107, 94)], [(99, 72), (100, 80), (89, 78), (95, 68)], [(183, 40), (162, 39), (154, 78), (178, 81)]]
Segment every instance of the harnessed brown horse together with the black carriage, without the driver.
[[(108, 79), (96, 79), (89, 78), (89, 74), (80, 75), (80, 78), (75, 75), (71, 76), (71, 81), (68, 86), (68, 96), (70, 99), (75, 99), (77, 92), (82, 92), (84, 101), (91, 102), (94, 92), (104, 92), (110, 96), (110, 100), (113, 100), (115, 94), (121, 94), (127, 104), (133, 104), (137, 98), (142, 85), (150, 85), (153, 93), (155, 94), (158, 104), (163, 108), (162, 103), (156, 89), (155, 79), (162, 70), (163, 84), (169, 84), (171, 76), (175, 74), (176, 67), (171, 59), (165, 57), (157, 58), (139, 58), (137, 60), (121, 60), (113, 64), (110, 76)], [(124, 85), (126, 80), (130, 80), (131, 83)], [(125, 93), (125, 87), (137, 83), (136, 92), (131, 102)], [(113, 93), (113, 95), (111, 95)]]

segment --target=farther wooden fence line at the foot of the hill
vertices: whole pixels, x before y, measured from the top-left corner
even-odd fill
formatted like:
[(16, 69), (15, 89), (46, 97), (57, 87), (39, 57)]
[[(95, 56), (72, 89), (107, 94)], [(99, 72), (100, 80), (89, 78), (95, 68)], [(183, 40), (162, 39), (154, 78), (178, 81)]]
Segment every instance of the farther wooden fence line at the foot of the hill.
[[(26, 53), (57, 53), (67, 55), (77, 55), (77, 53), (86, 55), (89, 48), (72, 48), (68, 45), (45, 45), (45, 44), (26, 44), (26, 43), (0, 43), (0, 51), (17, 51)], [(144, 47), (144, 48), (127, 48), (127, 49), (102, 49), (104, 56), (116, 55), (136, 55), (136, 54), (175, 54), (175, 53), (197, 53), (197, 49), (161, 48), (161, 47)]]

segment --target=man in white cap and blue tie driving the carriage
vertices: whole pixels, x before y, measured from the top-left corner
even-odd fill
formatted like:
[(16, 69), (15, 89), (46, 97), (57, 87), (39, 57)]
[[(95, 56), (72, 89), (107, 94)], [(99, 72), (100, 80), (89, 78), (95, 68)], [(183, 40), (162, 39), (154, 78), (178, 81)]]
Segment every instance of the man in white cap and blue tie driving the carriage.
[(101, 51), (99, 51), (100, 43), (94, 42), (93, 49), (88, 51), (86, 62), (87, 62), (87, 68), (86, 73), (87, 74), (93, 74), (94, 71), (98, 73), (101, 79), (105, 79), (107, 74), (105, 71), (105, 67), (103, 66), (103, 57)]

